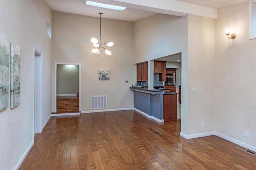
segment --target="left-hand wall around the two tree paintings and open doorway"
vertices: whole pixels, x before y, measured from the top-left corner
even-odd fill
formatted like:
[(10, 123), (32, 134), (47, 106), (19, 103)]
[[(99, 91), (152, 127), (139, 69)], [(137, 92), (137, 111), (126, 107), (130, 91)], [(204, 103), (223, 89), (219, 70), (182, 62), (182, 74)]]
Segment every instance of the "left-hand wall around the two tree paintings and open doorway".
[[(51, 113), (51, 39), (47, 17), (52, 11), (45, 1), (1, 0), (0, 31), (20, 46), (20, 105), (0, 111), (1, 170), (13, 169), (34, 141), (34, 51), (43, 53), (42, 125)], [(47, 117), (45, 117), (47, 113)]]

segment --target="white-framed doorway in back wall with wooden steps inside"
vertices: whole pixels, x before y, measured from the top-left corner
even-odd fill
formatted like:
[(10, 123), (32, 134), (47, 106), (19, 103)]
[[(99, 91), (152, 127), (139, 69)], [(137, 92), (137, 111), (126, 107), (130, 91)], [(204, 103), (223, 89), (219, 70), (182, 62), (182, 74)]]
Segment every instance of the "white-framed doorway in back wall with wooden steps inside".
[(81, 112), (81, 64), (54, 63), (54, 113)]

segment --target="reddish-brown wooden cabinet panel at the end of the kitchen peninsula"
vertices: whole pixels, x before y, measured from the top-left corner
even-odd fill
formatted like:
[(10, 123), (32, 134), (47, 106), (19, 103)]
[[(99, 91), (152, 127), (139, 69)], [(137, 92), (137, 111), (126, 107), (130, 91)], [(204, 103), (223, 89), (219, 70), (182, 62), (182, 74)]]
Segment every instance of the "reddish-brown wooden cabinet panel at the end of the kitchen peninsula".
[(164, 94), (164, 121), (177, 119), (177, 94)]

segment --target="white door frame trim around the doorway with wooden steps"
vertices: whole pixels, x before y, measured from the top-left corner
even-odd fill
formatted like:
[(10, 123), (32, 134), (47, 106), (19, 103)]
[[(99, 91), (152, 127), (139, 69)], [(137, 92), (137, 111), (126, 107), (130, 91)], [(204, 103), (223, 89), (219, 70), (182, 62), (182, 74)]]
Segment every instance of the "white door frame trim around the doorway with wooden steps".
[(54, 113), (57, 111), (57, 65), (79, 66), (79, 111), (81, 111), (81, 63), (54, 63)]

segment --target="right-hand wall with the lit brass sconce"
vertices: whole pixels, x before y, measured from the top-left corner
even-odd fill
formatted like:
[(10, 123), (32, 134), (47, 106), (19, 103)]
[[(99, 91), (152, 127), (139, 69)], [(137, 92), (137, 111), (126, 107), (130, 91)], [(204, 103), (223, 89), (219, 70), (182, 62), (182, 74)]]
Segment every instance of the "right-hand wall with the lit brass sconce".
[[(216, 20), (215, 131), (256, 147), (256, 39), (249, 40), (248, 3), (218, 10)], [(223, 31), (229, 27), (234, 40)], [(250, 137), (244, 137), (244, 131)]]

